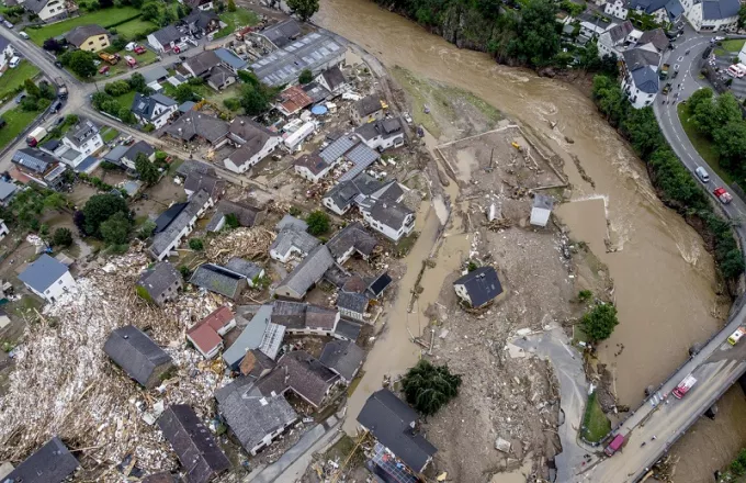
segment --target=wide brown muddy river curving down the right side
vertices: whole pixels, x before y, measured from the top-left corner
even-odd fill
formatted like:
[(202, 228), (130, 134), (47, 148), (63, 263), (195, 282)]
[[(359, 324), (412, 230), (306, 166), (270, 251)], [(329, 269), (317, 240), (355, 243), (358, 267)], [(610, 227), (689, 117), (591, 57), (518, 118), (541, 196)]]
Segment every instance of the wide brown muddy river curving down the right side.
[[(701, 238), (660, 203), (642, 162), (581, 92), (459, 49), (366, 0), (324, 0), (314, 21), (386, 67), (399, 65), (475, 93), (543, 135), (564, 159), (573, 202), (558, 215), (573, 238), (587, 242), (609, 266), (614, 280), (620, 325), (601, 347), (601, 358), (614, 373), (622, 404), (637, 405), (647, 384), (657, 385), (693, 342), (721, 325), (727, 305), (715, 295), (713, 260)], [(573, 156), (595, 189), (579, 176)], [(608, 252), (607, 242), (613, 251)], [(731, 411), (746, 414), (746, 405), (742, 401)]]

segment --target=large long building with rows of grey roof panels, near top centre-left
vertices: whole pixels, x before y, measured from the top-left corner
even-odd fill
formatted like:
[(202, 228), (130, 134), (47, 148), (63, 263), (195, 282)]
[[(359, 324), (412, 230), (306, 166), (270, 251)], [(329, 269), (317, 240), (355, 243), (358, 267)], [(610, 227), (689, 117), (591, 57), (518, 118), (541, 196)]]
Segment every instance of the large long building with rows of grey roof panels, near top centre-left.
[(346, 48), (331, 36), (312, 32), (279, 50), (258, 58), (251, 70), (262, 83), (271, 87), (298, 82), (301, 71), (308, 69), (314, 76), (339, 65)]

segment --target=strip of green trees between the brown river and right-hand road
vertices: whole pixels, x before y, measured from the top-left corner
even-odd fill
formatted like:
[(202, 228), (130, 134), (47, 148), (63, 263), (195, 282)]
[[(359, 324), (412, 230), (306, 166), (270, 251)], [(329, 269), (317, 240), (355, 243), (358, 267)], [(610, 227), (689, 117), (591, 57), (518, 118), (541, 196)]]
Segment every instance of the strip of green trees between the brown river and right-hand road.
[(594, 101), (609, 123), (632, 144), (647, 165), (651, 181), (663, 202), (700, 227), (714, 248), (715, 261), (726, 279), (744, 271), (744, 258), (730, 222), (714, 213), (708, 194), (681, 165), (660, 133), (652, 108), (634, 109), (615, 78), (594, 77)]

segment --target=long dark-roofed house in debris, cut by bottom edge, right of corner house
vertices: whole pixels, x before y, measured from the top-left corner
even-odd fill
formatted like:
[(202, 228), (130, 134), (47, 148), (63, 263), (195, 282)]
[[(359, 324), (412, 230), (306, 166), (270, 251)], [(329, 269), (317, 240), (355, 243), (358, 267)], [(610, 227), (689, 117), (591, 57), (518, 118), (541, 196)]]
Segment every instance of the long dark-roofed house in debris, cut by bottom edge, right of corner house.
[(230, 469), (210, 429), (187, 404), (172, 404), (158, 418), (158, 426), (187, 470), (189, 483), (207, 483)]

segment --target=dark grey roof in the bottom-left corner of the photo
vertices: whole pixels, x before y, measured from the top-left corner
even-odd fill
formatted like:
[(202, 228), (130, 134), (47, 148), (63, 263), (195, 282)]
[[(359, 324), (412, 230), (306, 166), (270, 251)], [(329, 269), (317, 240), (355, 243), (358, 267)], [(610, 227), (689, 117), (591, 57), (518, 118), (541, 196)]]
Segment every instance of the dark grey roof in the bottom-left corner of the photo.
[(61, 483), (67, 481), (78, 467), (78, 460), (59, 437), (55, 436), (5, 475), (2, 482)]

